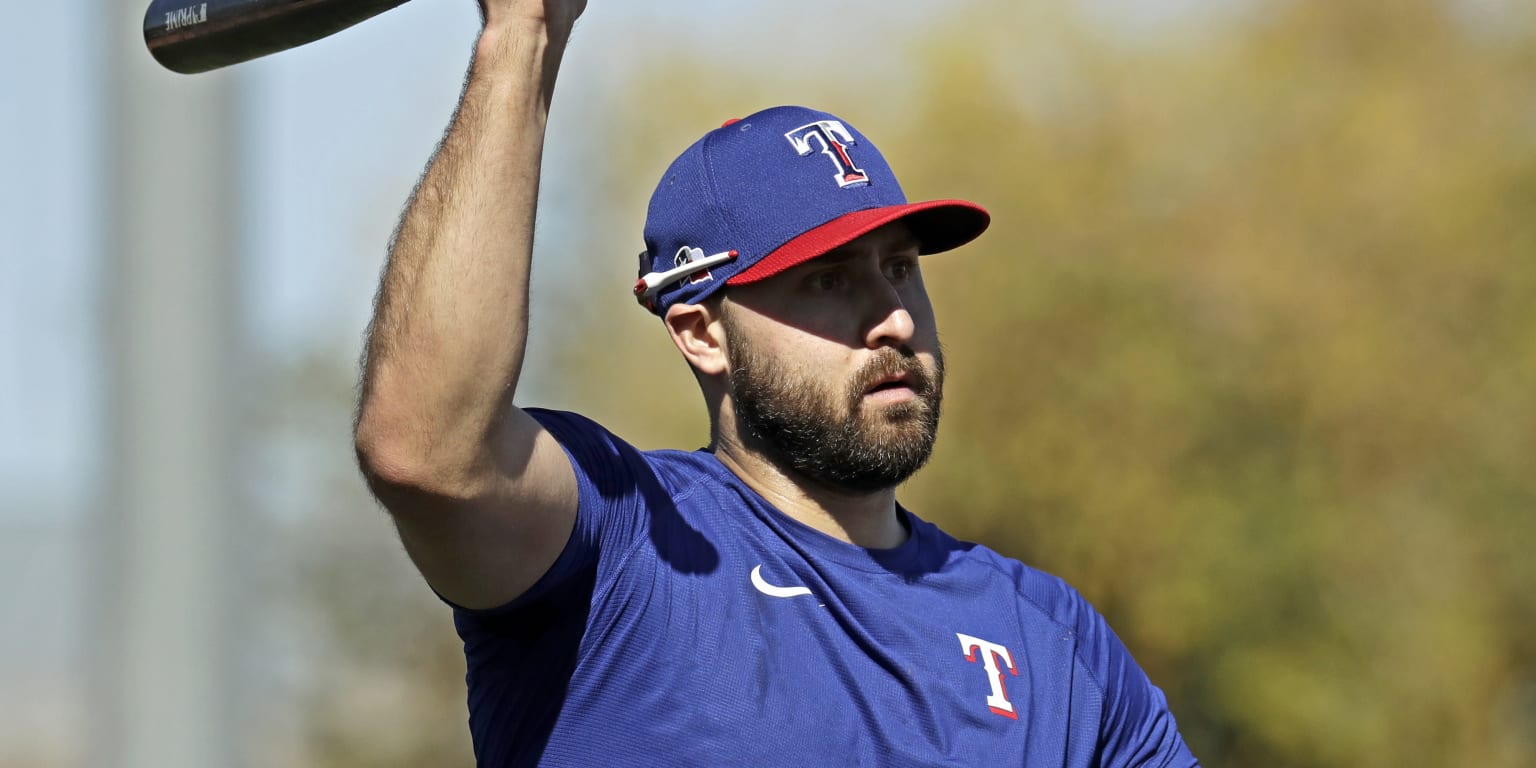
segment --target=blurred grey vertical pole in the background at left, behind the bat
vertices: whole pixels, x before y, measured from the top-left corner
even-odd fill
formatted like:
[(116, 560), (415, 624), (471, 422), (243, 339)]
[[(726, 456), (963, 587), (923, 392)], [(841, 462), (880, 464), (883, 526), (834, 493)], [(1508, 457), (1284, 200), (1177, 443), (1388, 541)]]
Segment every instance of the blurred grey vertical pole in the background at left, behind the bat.
[(89, 763), (238, 765), (237, 89), (161, 69), (101, 3), (104, 490), (91, 522)]

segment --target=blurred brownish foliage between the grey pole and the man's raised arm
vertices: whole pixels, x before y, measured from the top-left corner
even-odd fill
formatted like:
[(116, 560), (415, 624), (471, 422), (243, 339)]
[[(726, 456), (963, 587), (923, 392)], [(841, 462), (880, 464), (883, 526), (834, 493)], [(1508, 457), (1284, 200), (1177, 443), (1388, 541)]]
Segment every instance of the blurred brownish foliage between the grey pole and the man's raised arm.
[(287, 725), (300, 742), (292, 762), (468, 766), (452, 613), (416, 574), (352, 458), (355, 355), (316, 352), (283, 370), (258, 419), (260, 455), (284, 478), (258, 493), (281, 559), (263, 568), (272, 582), (264, 611), (281, 630), (270, 642), (298, 667), (283, 691), (300, 711)]

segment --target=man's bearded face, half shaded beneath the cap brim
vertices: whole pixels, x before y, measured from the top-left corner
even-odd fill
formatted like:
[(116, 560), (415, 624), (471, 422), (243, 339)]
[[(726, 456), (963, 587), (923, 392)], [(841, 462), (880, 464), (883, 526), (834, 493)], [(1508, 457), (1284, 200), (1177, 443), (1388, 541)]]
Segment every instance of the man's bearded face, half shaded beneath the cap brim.
[(943, 355), (905, 224), (722, 303), (743, 439), (849, 492), (889, 488), (932, 453)]

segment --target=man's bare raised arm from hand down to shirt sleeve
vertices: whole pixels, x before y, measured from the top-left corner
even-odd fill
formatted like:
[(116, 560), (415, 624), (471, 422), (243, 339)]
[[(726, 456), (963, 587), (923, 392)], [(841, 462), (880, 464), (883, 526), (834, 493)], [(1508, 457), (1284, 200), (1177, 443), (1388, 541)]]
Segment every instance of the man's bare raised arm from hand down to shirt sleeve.
[(356, 450), (435, 590), (516, 598), (576, 518), (562, 449), (513, 406), (527, 341), (539, 163), (585, 0), (481, 0), (458, 112), (412, 195), (369, 326)]

